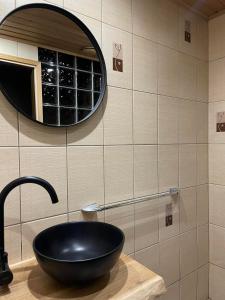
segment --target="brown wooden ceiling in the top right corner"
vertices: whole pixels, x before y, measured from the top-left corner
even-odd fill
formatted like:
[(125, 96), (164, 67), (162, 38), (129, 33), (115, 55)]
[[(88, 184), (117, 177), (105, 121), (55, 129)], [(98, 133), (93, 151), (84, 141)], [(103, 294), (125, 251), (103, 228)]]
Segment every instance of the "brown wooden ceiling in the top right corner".
[(182, 0), (181, 2), (208, 18), (225, 10), (225, 0)]

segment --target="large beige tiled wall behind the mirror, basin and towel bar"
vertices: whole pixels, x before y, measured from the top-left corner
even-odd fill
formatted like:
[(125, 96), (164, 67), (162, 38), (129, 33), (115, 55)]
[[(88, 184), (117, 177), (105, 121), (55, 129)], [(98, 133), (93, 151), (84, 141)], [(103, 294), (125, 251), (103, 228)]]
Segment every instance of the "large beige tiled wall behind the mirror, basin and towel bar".
[[(0, 0), (0, 15), (30, 2)], [(44, 190), (30, 184), (11, 193), (6, 204), (10, 262), (33, 256), (32, 239), (40, 230), (86, 219), (79, 209), (87, 204), (179, 187), (179, 199), (160, 198), (97, 218), (121, 227), (125, 252), (164, 276), (168, 293), (162, 300), (206, 300), (207, 21), (167, 0), (51, 3), (80, 17), (96, 36), (106, 60), (108, 92), (94, 117), (68, 130), (26, 120), (1, 95), (0, 186), (37, 175), (53, 184), (60, 200), (52, 205)], [(186, 20), (191, 43), (184, 41)], [(122, 73), (112, 70), (114, 42), (123, 47)], [(0, 52), (37, 57), (35, 47), (12, 41), (0, 40)], [(170, 203), (173, 225), (166, 227)]]

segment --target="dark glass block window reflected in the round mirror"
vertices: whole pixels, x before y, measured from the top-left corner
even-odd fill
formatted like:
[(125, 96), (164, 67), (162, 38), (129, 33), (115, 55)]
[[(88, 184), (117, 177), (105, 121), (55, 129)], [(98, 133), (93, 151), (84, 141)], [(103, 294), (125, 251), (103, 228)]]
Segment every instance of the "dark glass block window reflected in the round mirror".
[(71, 125), (86, 118), (100, 96), (100, 63), (44, 48), (38, 49), (38, 60), (44, 123)]

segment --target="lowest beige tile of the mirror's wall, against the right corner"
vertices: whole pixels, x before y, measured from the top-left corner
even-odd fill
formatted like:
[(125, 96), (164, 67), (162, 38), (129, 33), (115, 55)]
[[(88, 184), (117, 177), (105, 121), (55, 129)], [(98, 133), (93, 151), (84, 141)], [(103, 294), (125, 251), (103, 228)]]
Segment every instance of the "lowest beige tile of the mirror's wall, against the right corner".
[(205, 265), (198, 270), (197, 300), (207, 300), (209, 298), (209, 265)]

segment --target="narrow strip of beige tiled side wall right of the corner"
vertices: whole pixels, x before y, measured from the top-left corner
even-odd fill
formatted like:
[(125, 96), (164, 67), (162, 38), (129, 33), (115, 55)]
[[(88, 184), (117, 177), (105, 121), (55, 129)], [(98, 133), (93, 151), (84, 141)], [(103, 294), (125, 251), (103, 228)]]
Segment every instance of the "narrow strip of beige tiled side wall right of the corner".
[(225, 133), (216, 132), (225, 111), (225, 15), (209, 22), (209, 233), (210, 296), (225, 299)]

